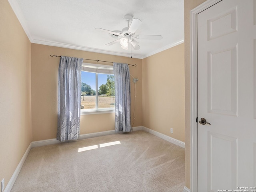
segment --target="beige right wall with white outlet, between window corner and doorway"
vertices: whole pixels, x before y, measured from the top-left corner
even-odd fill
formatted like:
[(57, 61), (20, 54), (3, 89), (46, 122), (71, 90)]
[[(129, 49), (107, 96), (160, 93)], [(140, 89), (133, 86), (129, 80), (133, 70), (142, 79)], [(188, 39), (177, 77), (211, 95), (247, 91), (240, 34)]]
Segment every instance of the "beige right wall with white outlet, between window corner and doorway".
[(184, 43), (144, 58), (142, 75), (143, 126), (184, 142)]

